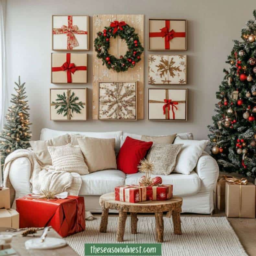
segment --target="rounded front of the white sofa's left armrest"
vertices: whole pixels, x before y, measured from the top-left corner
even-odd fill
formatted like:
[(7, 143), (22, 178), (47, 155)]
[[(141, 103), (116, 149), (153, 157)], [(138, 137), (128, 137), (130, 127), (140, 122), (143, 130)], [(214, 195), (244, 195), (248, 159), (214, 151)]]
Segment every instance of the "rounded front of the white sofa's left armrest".
[(27, 157), (15, 159), (9, 170), (9, 180), (15, 190), (15, 199), (30, 193), (31, 164)]

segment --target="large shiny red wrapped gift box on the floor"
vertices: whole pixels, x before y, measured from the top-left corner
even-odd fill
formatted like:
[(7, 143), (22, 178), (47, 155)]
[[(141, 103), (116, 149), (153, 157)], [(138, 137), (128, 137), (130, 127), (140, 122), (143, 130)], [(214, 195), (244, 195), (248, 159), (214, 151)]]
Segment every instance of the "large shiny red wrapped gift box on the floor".
[(19, 227), (52, 228), (66, 237), (85, 230), (85, 203), (82, 196), (65, 199), (37, 199), (30, 196), (16, 200)]

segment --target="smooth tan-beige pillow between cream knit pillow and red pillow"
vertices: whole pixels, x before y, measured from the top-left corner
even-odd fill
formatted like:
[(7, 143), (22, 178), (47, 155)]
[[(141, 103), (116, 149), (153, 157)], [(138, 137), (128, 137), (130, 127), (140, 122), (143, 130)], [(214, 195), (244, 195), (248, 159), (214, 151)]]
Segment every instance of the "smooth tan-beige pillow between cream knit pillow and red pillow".
[(116, 169), (115, 139), (77, 138), (89, 172)]

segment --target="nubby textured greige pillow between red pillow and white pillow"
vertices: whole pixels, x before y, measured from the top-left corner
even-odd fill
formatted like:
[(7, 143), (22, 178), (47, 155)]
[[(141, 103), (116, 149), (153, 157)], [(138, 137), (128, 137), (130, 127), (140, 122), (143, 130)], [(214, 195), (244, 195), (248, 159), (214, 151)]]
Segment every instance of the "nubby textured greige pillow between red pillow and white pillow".
[(154, 143), (147, 155), (147, 159), (154, 162), (153, 174), (169, 175), (175, 168), (176, 158), (182, 145)]

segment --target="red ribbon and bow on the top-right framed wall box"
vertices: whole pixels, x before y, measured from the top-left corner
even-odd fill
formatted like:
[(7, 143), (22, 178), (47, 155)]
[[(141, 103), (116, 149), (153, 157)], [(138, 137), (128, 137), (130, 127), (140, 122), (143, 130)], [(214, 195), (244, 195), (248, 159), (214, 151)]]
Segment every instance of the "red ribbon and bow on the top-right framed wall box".
[(169, 50), (170, 49), (170, 41), (174, 37), (185, 37), (186, 32), (175, 32), (173, 29), (170, 29), (170, 21), (166, 20), (165, 21), (165, 27), (161, 28), (161, 32), (150, 32), (149, 37), (164, 37), (165, 41), (165, 49)]

